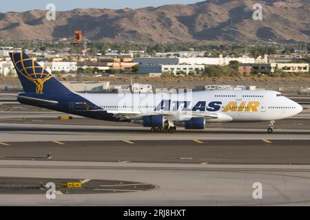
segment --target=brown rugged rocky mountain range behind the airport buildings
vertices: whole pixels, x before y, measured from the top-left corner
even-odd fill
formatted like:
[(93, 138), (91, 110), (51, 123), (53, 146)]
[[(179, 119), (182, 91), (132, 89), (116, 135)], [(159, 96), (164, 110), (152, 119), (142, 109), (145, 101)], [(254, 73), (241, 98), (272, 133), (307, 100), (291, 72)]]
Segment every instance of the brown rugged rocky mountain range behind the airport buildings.
[[(254, 21), (254, 4), (262, 20)], [(0, 13), (1, 39), (70, 38), (83, 30), (90, 40), (135, 43), (191, 41), (310, 41), (310, 0), (208, 0), (132, 10), (75, 9)]]

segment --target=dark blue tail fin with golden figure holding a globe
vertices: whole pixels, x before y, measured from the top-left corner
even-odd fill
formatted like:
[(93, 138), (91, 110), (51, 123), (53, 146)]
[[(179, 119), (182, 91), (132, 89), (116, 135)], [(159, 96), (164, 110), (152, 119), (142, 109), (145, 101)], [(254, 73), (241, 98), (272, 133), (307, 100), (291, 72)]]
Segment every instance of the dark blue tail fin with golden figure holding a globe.
[(10, 57), (21, 80), (23, 91), (36, 94), (68, 94), (70, 89), (23, 52), (10, 53)]

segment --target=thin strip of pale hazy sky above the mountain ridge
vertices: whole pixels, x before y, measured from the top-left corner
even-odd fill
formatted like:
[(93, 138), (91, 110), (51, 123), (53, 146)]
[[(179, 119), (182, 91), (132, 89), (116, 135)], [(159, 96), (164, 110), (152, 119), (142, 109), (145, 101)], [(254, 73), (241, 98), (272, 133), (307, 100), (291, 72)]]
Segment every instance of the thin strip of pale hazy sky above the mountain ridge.
[(190, 4), (203, 0), (15, 0), (2, 1), (0, 12), (25, 12), (27, 10), (45, 10), (48, 3), (54, 3), (57, 11), (72, 10), (74, 8), (143, 8), (173, 3)]

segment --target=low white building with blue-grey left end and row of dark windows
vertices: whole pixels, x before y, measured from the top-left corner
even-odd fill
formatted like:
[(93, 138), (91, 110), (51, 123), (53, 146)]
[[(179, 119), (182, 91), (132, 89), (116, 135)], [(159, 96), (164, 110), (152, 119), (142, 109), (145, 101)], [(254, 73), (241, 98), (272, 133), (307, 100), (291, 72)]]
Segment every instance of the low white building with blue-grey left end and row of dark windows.
[(205, 65), (140, 65), (139, 72), (141, 74), (158, 74), (170, 72), (174, 75), (184, 72), (186, 75), (198, 72), (204, 72)]

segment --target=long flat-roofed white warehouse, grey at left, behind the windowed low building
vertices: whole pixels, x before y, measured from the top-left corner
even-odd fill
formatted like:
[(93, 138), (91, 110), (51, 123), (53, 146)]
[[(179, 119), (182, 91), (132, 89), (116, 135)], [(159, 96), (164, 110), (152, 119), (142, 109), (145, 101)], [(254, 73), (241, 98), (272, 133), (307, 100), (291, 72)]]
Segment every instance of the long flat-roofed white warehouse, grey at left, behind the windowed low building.
[[(140, 63), (142, 65), (177, 65), (177, 64), (188, 64), (188, 65), (229, 65), (230, 61), (238, 61), (239, 63), (256, 63), (255, 58), (242, 56), (232, 58), (229, 56), (223, 57), (220, 55), (218, 58), (209, 57), (137, 57), (134, 58), (134, 63)], [(266, 61), (267, 62), (267, 61)]]

